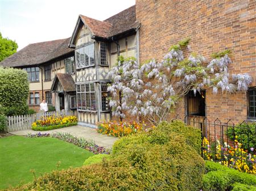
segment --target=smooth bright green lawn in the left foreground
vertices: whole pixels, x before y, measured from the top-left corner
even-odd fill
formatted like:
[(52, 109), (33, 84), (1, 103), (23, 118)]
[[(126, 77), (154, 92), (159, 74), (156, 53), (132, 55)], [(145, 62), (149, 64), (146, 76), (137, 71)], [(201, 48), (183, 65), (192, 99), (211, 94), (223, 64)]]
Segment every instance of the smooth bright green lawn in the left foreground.
[(57, 169), (80, 167), (93, 153), (56, 138), (0, 138), (0, 189), (33, 180), (36, 176)]

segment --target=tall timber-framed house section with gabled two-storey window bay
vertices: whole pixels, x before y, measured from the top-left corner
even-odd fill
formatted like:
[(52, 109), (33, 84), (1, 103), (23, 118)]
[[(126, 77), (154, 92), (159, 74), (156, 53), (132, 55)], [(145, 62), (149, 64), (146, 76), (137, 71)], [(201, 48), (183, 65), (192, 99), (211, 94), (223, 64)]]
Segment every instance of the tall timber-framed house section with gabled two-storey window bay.
[(108, 72), (119, 55), (138, 58), (135, 6), (103, 22), (79, 15), (69, 48), (75, 48), (79, 124), (95, 126), (110, 119)]

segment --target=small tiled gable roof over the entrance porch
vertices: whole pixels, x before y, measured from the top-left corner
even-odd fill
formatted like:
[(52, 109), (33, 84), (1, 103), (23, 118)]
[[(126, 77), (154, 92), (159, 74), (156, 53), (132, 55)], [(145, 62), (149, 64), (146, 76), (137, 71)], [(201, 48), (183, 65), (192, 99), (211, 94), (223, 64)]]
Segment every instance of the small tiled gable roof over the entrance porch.
[(65, 92), (76, 91), (75, 81), (71, 74), (57, 73), (52, 83), (51, 92), (56, 90), (58, 82), (60, 82)]

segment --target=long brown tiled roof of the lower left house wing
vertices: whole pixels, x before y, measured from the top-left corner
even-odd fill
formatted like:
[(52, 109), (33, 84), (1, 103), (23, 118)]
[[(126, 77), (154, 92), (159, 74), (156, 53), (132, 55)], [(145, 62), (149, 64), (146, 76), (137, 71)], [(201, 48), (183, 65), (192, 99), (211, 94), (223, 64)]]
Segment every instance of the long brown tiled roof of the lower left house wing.
[(38, 65), (73, 52), (68, 48), (69, 39), (59, 39), (42, 43), (33, 43), (0, 62), (3, 67), (23, 67)]

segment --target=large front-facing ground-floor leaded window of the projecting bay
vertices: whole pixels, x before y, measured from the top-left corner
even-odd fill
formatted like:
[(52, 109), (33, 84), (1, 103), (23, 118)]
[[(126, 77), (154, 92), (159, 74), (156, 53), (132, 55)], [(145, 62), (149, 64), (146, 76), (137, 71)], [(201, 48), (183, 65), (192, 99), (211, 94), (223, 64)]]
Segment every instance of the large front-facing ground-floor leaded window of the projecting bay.
[(81, 111), (96, 111), (94, 83), (77, 85), (77, 109)]

